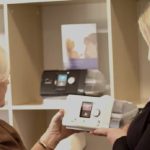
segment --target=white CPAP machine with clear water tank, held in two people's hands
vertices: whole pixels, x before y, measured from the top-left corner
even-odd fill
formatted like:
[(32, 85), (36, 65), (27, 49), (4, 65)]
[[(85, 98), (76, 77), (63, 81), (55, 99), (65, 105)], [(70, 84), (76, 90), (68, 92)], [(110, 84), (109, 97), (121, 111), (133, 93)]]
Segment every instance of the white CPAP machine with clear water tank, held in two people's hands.
[(94, 128), (119, 128), (133, 120), (138, 108), (127, 101), (101, 97), (69, 95), (66, 100), (63, 125), (89, 131)]

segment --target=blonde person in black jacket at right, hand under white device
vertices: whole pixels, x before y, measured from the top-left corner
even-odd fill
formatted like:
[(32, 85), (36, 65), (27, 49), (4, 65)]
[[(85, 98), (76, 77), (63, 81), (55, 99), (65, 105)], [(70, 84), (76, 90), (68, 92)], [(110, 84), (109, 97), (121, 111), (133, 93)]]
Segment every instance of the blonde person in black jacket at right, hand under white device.
[[(139, 18), (140, 31), (148, 45), (150, 60), (150, 3)], [(106, 136), (113, 150), (150, 150), (150, 102), (128, 127), (95, 129), (94, 135)]]

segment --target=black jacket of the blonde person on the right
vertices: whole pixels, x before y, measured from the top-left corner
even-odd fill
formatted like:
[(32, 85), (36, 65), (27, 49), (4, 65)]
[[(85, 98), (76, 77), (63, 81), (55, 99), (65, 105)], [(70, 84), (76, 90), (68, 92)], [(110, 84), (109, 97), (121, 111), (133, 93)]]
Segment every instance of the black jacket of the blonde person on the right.
[(150, 102), (131, 123), (127, 136), (116, 140), (113, 150), (150, 150)]

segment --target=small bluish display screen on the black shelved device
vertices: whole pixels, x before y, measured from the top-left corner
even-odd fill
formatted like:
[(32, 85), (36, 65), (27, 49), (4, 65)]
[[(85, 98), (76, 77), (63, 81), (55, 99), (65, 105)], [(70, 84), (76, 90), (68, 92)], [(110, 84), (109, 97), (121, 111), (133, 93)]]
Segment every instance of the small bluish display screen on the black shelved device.
[(57, 76), (57, 86), (66, 86), (67, 84), (67, 74), (59, 74)]

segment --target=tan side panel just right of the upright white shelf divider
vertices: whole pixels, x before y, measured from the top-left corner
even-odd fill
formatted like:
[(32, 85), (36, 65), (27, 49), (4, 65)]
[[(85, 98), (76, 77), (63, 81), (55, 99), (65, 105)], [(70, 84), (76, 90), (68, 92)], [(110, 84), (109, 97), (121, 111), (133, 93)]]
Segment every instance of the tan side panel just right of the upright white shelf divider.
[(137, 1), (112, 0), (115, 98), (140, 99)]

